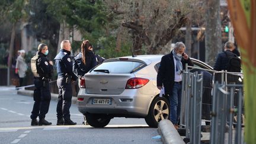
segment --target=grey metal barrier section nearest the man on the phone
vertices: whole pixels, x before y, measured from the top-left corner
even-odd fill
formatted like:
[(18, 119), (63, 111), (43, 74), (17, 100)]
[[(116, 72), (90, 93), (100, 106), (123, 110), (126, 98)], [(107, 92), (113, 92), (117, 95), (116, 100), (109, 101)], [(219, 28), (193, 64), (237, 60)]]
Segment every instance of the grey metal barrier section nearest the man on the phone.
[[(181, 113), (185, 113), (186, 136), (191, 137), (191, 143), (200, 143), (201, 136), (201, 99), (203, 89), (203, 73), (186, 72), (186, 79), (183, 82), (183, 88), (187, 89), (187, 96), (183, 97)], [(181, 117), (183, 121), (183, 117)]]

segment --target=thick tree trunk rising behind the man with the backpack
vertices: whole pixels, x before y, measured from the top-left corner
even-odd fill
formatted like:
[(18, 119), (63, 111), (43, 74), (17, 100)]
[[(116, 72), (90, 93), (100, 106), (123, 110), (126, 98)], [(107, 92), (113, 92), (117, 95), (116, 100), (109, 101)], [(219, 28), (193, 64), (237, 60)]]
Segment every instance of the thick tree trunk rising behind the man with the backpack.
[(220, 1), (209, 0), (206, 5), (206, 63), (213, 66), (217, 53), (222, 50)]

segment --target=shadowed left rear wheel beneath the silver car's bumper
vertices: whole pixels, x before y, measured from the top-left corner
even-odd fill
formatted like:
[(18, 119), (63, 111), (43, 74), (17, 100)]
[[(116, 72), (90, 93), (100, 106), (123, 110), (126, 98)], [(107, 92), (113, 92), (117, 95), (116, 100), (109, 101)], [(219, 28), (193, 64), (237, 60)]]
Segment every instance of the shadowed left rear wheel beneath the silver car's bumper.
[(92, 127), (105, 127), (110, 123), (111, 117), (106, 114), (85, 114), (87, 123)]

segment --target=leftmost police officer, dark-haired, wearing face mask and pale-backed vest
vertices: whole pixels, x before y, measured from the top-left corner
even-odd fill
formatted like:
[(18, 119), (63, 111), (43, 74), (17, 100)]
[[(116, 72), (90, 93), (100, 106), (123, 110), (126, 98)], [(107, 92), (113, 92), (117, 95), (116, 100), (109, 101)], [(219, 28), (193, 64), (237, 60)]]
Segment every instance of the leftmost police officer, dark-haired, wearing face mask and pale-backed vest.
[[(38, 52), (31, 59), (31, 70), (34, 75), (34, 106), (30, 118), (31, 126), (50, 125), (52, 123), (44, 119), (50, 105), (49, 81), (52, 77), (53, 63), (47, 59), (48, 47), (46, 44), (39, 44)], [(37, 121), (39, 116), (39, 121)]]

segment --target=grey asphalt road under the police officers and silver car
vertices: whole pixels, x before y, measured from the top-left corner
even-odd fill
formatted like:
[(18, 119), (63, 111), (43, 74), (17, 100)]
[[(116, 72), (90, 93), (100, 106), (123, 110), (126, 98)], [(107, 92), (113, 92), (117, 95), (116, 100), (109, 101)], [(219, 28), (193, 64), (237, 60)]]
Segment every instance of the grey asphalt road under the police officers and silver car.
[(51, 101), (46, 120), (51, 126), (30, 126), (33, 97), (17, 95), (14, 89), (0, 87), (0, 143), (162, 143), (144, 119), (115, 118), (107, 127), (84, 126), (75, 104), (71, 119), (75, 126), (56, 126), (56, 101)]

